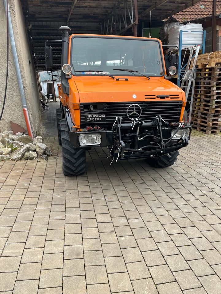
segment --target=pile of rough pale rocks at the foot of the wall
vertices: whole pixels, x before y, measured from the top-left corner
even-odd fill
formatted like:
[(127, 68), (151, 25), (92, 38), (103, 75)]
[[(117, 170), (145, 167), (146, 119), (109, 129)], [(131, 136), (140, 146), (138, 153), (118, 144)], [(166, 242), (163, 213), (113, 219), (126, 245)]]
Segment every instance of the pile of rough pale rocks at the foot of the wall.
[(22, 133), (13, 135), (12, 131), (0, 134), (0, 161), (34, 158), (47, 160), (51, 154), (51, 149), (44, 144), (40, 136), (33, 140)]

